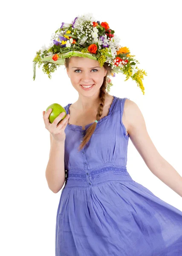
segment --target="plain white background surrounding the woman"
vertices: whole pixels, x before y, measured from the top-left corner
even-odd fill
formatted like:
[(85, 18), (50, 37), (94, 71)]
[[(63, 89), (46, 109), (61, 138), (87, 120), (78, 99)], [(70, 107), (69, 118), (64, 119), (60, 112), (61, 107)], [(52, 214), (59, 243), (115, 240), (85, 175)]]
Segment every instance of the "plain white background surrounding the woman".
[[(113, 78), (110, 94), (139, 106), (151, 140), (182, 176), (181, 8), (173, 1), (10, 1), (1, 19), (1, 247), (0, 255), (54, 256), (55, 224), (61, 191), (53, 193), (45, 171), (49, 131), (42, 112), (52, 103), (74, 103), (64, 66), (50, 80), (33, 63), (36, 51), (51, 42), (62, 22), (92, 12), (106, 21), (140, 62), (145, 95), (123, 74)], [(152, 156), (151, 156), (152, 157)], [(147, 168), (129, 140), (127, 170), (133, 180), (182, 211), (182, 198)]]

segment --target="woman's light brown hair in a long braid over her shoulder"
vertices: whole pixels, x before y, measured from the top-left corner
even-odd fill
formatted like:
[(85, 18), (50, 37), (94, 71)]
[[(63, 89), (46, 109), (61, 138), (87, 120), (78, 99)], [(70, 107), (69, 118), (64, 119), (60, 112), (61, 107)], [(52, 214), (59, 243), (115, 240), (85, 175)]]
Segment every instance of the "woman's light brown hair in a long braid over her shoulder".
[[(65, 67), (68, 69), (69, 67), (69, 58), (65, 58)], [(107, 70), (107, 74), (106, 76), (104, 76), (104, 81), (101, 85), (100, 88), (100, 93), (99, 93), (99, 99), (100, 99), (100, 103), (98, 105), (98, 111), (97, 111), (97, 115), (96, 115), (96, 120), (99, 121), (101, 116), (102, 116), (102, 112), (104, 109), (104, 103), (105, 103), (105, 98), (108, 95), (108, 92), (106, 91), (107, 88), (107, 76), (110, 76), (110, 74), (112, 73), (112, 68), (110, 66), (108, 66), (107, 62), (104, 62), (103, 65), (104, 69)], [(82, 148), (84, 148), (84, 146), (89, 142), (92, 134), (95, 131), (97, 123), (94, 122), (92, 125), (90, 125), (89, 128), (87, 128), (86, 130), (86, 134), (83, 138), (83, 142), (81, 143), (81, 145), (79, 146), (78, 150), (80, 151)]]

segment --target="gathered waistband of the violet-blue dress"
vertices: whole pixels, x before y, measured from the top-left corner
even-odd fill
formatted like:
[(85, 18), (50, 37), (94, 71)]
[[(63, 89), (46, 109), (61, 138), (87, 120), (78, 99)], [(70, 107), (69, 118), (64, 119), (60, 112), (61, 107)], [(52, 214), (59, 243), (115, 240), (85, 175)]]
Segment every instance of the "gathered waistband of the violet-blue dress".
[(133, 182), (126, 166), (104, 166), (84, 173), (67, 170), (64, 189), (75, 187), (92, 187), (108, 181)]

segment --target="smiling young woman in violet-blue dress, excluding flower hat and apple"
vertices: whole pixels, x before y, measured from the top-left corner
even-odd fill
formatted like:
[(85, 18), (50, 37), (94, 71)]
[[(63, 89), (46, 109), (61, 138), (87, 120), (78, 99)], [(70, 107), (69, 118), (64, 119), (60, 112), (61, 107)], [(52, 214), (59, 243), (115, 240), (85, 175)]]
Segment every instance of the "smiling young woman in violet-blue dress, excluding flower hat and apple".
[(78, 100), (52, 124), (52, 110), (43, 111), (51, 140), (47, 183), (55, 193), (64, 186), (55, 255), (181, 256), (182, 212), (130, 177), (129, 137), (150, 171), (180, 196), (182, 177), (156, 150), (136, 103), (106, 91), (108, 62), (72, 56), (64, 65)]

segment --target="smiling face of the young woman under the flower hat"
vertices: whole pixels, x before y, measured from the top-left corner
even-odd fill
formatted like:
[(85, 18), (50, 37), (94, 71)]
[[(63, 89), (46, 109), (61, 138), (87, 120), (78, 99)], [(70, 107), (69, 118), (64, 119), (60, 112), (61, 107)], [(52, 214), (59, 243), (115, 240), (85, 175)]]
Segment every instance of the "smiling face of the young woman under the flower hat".
[[(93, 94), (100, 89), (103, 84), (104, 76), (107, 74), (107, 70), (104, 67), (100, 67), (97, 60), (90, 58), (73, 56), (69, 59), (69, 69), (66, 72), (71, 80), (71, 83), (75, 90), (81, 94)], [(92, 85), (90, 90), (84, 90), (81, 85)]]

